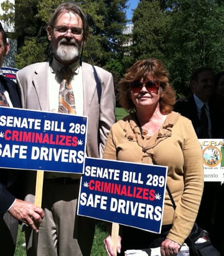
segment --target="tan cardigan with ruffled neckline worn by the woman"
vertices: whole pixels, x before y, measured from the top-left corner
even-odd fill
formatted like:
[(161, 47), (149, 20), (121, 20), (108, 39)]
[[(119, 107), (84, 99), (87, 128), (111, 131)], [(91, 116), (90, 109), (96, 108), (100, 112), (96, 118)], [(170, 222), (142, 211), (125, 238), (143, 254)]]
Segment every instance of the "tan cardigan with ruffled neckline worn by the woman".
[(162, 224), (173, 224), (167, 238), (183, 244), (203, 192), (202, 149), (191, 121), (173, 111), (154, 136), (142, 139), (134, 114), (126, 116), (112, 126), (103, 158), (168, 166), (167, 184), (177, 207), (174, 212), (166, 191)]

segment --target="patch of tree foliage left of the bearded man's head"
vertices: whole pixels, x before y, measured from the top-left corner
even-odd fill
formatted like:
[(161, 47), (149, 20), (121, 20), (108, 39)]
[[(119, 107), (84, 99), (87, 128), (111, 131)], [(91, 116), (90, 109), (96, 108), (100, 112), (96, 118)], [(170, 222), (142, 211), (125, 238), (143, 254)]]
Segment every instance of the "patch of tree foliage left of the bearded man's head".
[(39, 14), (38, 0), (15, 1), (15, 30), (17, 37), (17, 68), (47, 60), (48, 45), (45, 21)]

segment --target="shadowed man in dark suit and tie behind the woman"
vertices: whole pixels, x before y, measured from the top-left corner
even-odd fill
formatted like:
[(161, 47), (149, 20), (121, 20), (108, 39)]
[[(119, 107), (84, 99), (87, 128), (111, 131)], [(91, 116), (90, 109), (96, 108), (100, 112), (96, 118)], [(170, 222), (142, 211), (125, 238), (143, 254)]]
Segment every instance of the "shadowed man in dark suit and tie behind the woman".
[[(190, 77), (190, 88), (192, 95), (188, 98), (180, 98), (174, 105), (174, 111), (186, 116), (192, 121), (198, 139), (215, 138), (214, 121), (215, 108), (212, 103), (212, 94), (215, 87), (215, 75), (210, 67), (200, 67), (196, 69)], [(205, 104), (205, 113), (207, 115), (207, 135), (203, 132), (205, 125), (200, 122), (202, 107)], [(197, 171), (197, 170), (195, 170)], [(220, 183), (205, 182), (202, 201), (196, 219), (197, 224), (202, 229), (207, 230), (210, 239), (213, 242), (213, 224), (215, 211), (215, 197)]]

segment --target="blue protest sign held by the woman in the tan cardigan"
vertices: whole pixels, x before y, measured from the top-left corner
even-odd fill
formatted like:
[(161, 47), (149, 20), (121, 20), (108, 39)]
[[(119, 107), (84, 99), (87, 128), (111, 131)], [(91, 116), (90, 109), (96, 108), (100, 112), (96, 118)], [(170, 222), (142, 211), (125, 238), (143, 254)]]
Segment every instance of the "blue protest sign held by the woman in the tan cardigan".
[(86, 158), (78, 215), (160, 233), (166, 166)]

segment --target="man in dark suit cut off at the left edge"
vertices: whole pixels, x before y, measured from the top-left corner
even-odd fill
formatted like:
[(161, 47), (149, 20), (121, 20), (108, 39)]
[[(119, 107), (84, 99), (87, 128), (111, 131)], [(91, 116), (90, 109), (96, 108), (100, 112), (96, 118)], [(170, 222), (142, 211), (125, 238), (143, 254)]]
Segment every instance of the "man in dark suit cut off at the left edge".
[[(9, 51), (6, 33), (0, 23), (0, 67)], [(7, 107), (21, 108), (21, 99), (16, 83), (0, 75), (0, 104)], [(6, 105), (4, 105), (6, 107)], [(24, 171), (0, 168), (0, 255), (14, 255), (19, 221), (30, 225), (35, 232), (44, 217), (44, 211), (22, 201)]]

